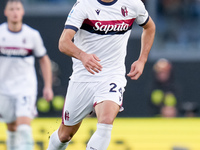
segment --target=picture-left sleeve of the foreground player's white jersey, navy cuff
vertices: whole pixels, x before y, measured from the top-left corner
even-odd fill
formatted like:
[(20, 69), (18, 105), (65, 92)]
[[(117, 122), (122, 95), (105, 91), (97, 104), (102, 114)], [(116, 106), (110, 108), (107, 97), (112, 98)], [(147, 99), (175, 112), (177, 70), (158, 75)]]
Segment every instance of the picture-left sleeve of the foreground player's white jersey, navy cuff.
[(84, 11), (85, 6), (83, 4), (81, 0), (78, 0), (74, 4), (65, 22), (66, 29), (73, 29), (75, 31), (80, 29), (83, 21), (87, 18), (86, 11)]

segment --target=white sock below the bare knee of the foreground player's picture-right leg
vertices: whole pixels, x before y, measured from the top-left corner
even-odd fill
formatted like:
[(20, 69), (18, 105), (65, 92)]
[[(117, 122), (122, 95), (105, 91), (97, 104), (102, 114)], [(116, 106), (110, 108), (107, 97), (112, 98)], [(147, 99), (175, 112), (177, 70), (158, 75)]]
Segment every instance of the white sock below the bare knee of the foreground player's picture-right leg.
[(98, 123), (97, 130), (90, 138), (86, 150), (106, 150), (110, 143), (112, 127), (111, 124)]

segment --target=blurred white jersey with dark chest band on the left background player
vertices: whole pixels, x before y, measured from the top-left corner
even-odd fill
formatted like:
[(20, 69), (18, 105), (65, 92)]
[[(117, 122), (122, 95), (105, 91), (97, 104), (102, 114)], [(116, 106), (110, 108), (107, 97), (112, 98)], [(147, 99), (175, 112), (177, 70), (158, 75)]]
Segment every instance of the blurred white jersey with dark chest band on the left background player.
[(35, 58), (46, 54), (39, 32), (26, 24), (12, 32), (0, 25), (0, 94), (37, 94)]

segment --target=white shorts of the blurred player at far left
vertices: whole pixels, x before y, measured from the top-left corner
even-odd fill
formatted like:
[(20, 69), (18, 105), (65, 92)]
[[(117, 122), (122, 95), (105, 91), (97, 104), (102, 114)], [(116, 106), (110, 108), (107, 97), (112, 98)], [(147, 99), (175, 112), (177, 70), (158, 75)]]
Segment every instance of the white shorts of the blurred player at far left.
[(36, 96), (7, 96), (0, 94), (0, 120), (12, 123), (17, 117), (33, 119), (37, 115)]

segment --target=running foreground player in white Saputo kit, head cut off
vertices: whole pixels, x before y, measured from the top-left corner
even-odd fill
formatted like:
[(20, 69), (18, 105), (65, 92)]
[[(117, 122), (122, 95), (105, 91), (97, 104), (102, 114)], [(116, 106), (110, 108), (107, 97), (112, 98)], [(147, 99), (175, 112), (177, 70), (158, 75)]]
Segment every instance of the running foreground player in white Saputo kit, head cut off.
[[(125, 56), (133, 22), (143, 27), (141, 53), (127, 74), (143, 72), (155, 35), (155, 24), (141, 0), (78, 0), (68, 15), (59, 49), (73, 60), (62, 124), (48, 150), (65, 150), (81, 121), (93, 109), (97, 130), (86, 150), (106, 150), (113, 121), (122, 110), (126, 86)], [(72, 39), (74, 38), (74, 43)]]

